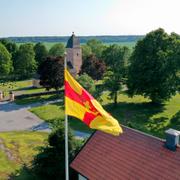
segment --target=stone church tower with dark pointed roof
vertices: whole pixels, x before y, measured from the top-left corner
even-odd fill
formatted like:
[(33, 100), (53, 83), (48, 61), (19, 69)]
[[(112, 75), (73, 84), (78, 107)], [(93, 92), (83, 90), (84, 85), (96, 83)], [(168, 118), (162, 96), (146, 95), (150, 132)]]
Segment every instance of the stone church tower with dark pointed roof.
[(80, 72), (82, 66), (82, 51), (78, 37), (73, 33), (66, 45), (67, 64), (72, 74)]

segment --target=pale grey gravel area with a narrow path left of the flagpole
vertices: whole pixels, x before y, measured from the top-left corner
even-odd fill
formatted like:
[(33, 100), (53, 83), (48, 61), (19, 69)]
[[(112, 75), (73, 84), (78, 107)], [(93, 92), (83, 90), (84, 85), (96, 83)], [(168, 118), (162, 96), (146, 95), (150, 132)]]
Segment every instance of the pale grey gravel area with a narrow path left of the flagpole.
[(58, 101), (61, 100), (30, 105), (17, 105), (13, 102), (0, 102), (0, 132), (19, 130), (50, 131), (47, 123), (29, 112), (28, 109)]

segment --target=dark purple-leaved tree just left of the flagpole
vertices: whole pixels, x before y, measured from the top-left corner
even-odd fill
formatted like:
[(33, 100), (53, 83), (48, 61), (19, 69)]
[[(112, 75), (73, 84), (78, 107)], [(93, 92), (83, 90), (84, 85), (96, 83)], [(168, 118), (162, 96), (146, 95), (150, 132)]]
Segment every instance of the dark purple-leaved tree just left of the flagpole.
[(64, 83), (64, 59), (62, 57), (48, 57), (38, 68), (40, 84), (47, 90), (58, 90)]

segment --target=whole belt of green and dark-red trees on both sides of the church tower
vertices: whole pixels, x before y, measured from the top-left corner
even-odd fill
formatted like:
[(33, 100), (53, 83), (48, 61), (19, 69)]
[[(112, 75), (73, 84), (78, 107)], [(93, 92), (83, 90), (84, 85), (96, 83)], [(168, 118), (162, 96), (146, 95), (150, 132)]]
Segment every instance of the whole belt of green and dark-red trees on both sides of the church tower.
[[(48, 51), (43, 43), (25, 43), (19, 47), (6, 39), (0, 41), (0, 76), (31, 78), (38, 72), (41, 84), (58, 89), (63, 85), (65, 46), (55, 44)], [(87, 89), (102, 80), (103, 89), (117, 103), (119, 91), (127, 87), (129, 96), (142, 95), (153, 103), (162, 103), (180, 90), (180, 36), (157, 29), (140, 39), (134, 49), (117, 44), (105, 45), (91, 39), (82, 46), (83, 64), (79, 75)]]

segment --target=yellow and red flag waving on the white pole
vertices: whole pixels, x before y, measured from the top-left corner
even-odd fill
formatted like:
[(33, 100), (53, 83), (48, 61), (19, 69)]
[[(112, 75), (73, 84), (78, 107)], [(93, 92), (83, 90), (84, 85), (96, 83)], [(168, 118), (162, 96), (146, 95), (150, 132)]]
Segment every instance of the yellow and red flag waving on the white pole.
[(65, 69), (65, 114), (82, 120), (92, 129), (118, 136), (122, 129), (116, 119)]

